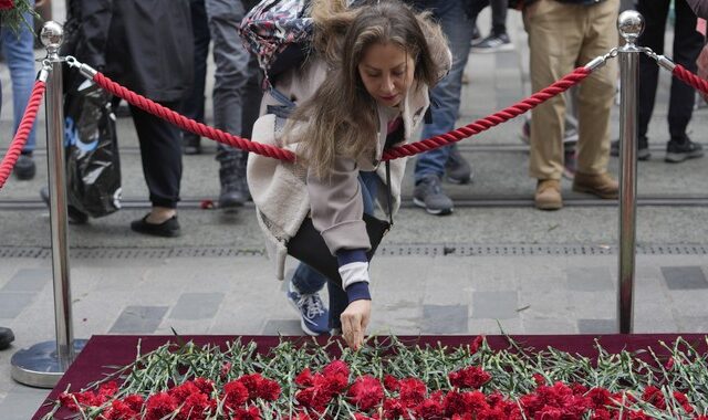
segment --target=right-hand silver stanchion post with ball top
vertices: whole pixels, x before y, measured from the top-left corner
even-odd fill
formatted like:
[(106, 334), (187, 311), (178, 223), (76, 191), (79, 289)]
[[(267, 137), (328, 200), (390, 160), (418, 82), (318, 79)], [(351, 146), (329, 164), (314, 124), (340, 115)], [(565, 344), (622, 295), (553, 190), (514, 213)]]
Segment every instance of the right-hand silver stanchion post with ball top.
[(625, 44), (620, 55), (620, 287), (617, 323), (620, 333), (632, 333), (634, 325), (634, 264), (636, 253), (637, 212), (637, 114), (639, 91), (639, 54), (635, 44), (644, 30), (642, 14), (627, 10), (617, 19)]

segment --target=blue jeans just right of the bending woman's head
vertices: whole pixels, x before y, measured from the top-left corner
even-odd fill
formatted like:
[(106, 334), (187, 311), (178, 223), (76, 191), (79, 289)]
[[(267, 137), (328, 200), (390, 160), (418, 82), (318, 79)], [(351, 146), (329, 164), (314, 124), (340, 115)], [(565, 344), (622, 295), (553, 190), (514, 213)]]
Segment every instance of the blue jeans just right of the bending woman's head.
[[(440, 1), (439, 6), (433, 9), (448, 38), (452, 52), (452, 67), (450, 73), (430, 92), (433, 123), (423, 128), (424, 139), (450, 132), (455, 128), (455, 122), (459, 115), (462, 72), (467, 65), (475, 29), (473, 22), (465, 13), (464, 3), (462, 0)], [(414, 171), (416, 182), (429, 174), (442, 177), (445, 162), (450, 155), (449, 147), (440, 147), (418, 155)]]

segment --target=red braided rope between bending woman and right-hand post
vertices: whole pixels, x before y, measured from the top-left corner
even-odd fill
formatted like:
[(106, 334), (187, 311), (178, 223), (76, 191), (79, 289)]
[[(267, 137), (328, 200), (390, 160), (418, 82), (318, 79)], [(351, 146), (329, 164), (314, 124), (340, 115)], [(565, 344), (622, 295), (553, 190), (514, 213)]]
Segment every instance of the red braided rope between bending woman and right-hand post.
[(383, 160), (392, 160), (405, 156), (417, 155), (424, 151), (436, 149), (438, 147), (447, 146), (451, 143), (459, 141), (467, 137), (471, 137), (511, 118), (514, 118), (525, 113), (527, 111), (538, 106), (539, 104), (544, 103), (553, 96), (568, 91), (571, 86), (579, 84), (591, 74), (591, 70), (585, 67), (577, 67), (572, 73), (569, 73), (565, 77), (543, 88), (542, 91), (534, 93), (533, 95), (516, 103), (514, 105), (489, 115), (486, 118), (478, 119), (471, 124), (454, 129), (446, 134), (388, 149), (384, 153)]

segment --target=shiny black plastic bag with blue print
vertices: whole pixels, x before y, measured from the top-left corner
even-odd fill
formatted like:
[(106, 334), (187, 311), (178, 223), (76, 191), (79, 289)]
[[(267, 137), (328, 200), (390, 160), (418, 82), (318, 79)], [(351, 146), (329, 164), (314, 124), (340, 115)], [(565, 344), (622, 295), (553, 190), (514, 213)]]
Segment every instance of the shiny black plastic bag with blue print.
[(69, 204), (93, 217), (121, 209), (121, 159), (110, 95), (90, 81), (64, 97)]

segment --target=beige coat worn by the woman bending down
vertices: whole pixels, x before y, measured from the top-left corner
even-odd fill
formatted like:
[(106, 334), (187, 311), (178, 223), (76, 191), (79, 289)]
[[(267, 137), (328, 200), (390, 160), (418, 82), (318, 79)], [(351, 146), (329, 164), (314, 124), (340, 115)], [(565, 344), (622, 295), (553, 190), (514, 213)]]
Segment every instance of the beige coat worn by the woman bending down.
[[(449, 57), (449, 53), (448, 53)], [(446, 67), (446, 70), (449, 66)], [(301, 103), (308, 99), (325, 77), (325, 64), (311, 60), (303, 67), (280, 77), (277, 88)], [(369, 248), (365, 224), (362, 221), (363, 203), (357, 176), (360, 170), (376, 170), (384, 186), (385, 165), (381, 165), (383, 148), (387, 137), (388, 122), (402, 116), (407, 143), (424, 118), (429, 106), (428, 86), (414, 84), (405, 95), (399, 109), (378, 107), (379, 130), (374, 161), (339, 158), (329, 182), (320, 182), (308, 177), (301, 166), (250, 154), (248, 159), (248, 185), (257, 208), (257, 218), (267, 239), (267, 250), (277, 264), (277, 277), (284, 276), (287, 243), (295, 235), (302, 221), (310, 214), (313, 224), (321, 231), (327, 248), (334, 254), (339, 249)], [(279, 105), (266, 95), (266, 105)], [(283, 144), (282, 120), (272, 114), (260, 117), (254, 126), (254, 141), (283, 147), (295, 151), (295, 144)], [(391, 161), (391, 192), (393, 212), (400, 204), (400, 183), (406, 159)], [(385, 187), (378, 189), (379, 203), (386, 203)]]

